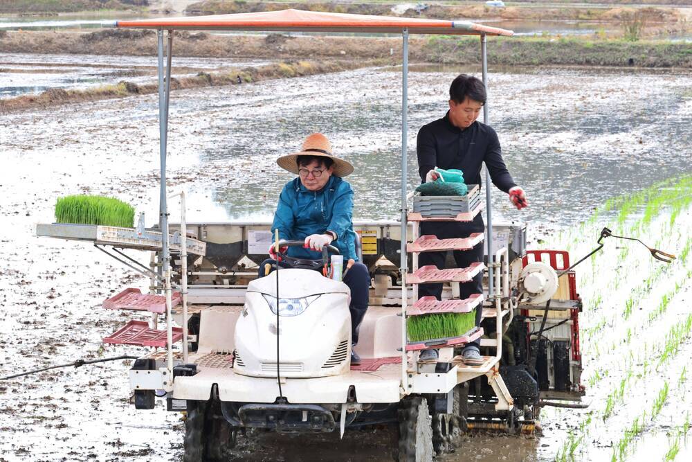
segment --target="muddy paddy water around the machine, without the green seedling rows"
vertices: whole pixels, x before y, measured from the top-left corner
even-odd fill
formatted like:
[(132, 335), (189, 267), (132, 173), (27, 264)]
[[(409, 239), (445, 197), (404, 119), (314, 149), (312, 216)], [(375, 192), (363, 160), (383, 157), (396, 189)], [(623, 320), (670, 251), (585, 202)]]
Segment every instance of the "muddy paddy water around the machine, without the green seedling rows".
[[(420, 125), (444, 114), (444, 94), (452, 77), (430, 71), (410, 75), (410, 146)], [(356, 174), (349, 177), (356, 190), (356, 216), (394, 217), (399, 197), (399, 82), (398, 73), (368, 69), (176, 92), (171, 99), (170, 190), (190, 192), (190, 221), (269, 217), (280, 187), (291, 178), (278, 170), (275, 157), (295, 150), (304, 134), (321, 130), (333, 139), (336, 152), (356, 166)], [(691, 84), (689, 75), (677, 73), (494, 73), (491, 122), (509, 169), (531, 202), (526, 213), (511, 211), (506, 197), (495, 190), (498, 215), (529, 220), (534, 231), (571, 226), (578, 235), (572, 225), (605, 197), (689, 172)], [(35, 222), (51, 221), (55, 197), (82, 192), (116, 195), (145, 211), (152, 223), (158, 209), (156, 114), (155, 97), (145, 96), (3, 116), (0, 375), (80, 357), (141, 353), (138, 348), (101, 346), (100, 339), (129, 315), (104, 312), (100, 304), (124, 287), (145, 288), (147, 281), (89, 245), (37, 239), (31, 233)], [(409, 157), (413, 172), (414, 150)], [(416, 183), (412, 173), (411, 187)], [(174, 206), (171, 212), (175, 216)], [(627, 264), (644, 268), (637, 261)], [(590, 298), (601, 287), (593, 277), (584, 284), (592, 287)], [(674, 322), (679, 310), (669, 309), (666, 322)], [(610, 311), (594, 308), (585, 314), (585, 328), (597, 325), (599, 316)], [(617, 384), (626, 373), (617, 366), (618, 355), (626, 352), (616, 349), (600, 356), (596, 344), (594, 339), (584, 347), (589, 352), (585, 377), (601, 362), (613, 371), (588, 396), (602, 409), (610, 382)], [(688, 357), (691, 348), (686, 344), (680, 357)], [(120, 361), (0, 382), (3, 457), (179, 460), (179, 415), (165, 413), (161, 403), (154, 411), (135, 411), (127, 402), (127, 368)], [(628, 402), (644, 396), (645, 387), (644, 382), (632, 387)], [(666, 418), (671, 422), (680, 414), (664, 409), (662, 416), (670, 416)], [(600, 449), (594, 456), (610, 454), (619, 437), (616, 430), (626, 425), (630, 414), (609, 422), (610, 434), (600, 436), (599, 428), (594, 429), (588, 440), (598, 439)], [(445, 460), (552, 460), (579, 416), (545, 412), (541, 438), (467, 436)], [(390, 457), (386, 433), (348, 432), (346, 438), (343, 443), (327, 437), (305, 445), (296, 438), (268, 436), (243, 443), (237, 458)], [(651, 438), (656, 441), (655, 435)]]

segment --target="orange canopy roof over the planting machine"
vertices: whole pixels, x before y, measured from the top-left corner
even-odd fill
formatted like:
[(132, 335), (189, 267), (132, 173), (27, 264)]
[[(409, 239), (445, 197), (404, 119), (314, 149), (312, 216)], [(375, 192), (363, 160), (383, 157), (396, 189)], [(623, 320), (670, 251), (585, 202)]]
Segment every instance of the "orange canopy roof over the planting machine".
[(116, 27), (188, 30), (257, 30), (301, 32), (401, 33), (442, 35), (513, 35), (513, 31), (468, 21), (348, 15), (303, 10), (282, 10), (235, 15), (213, 15), (116, 21)]

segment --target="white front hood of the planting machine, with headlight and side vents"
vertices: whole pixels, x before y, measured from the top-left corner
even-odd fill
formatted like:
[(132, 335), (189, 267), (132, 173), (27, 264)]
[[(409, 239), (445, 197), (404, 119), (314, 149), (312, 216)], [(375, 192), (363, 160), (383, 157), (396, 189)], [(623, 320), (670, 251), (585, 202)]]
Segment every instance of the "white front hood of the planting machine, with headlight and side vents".
[[(272, 310), (277, 306), (277, 275), (278, 326)], [(349, 302), (347, 285), (311, 269), (280, 269), (251, 281), (235, 325), (235, 373), (276, 377), (277, 335), (281, 377), (325, 377), (349, 371)]]

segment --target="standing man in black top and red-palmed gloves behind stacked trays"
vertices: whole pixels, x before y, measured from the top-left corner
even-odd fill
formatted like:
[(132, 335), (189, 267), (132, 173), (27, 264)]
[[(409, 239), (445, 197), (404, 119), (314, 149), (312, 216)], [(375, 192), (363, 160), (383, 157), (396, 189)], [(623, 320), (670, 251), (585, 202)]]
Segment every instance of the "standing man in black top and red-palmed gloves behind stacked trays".
[[(457, 76), (449, 88), (449, 111), (443, 118), (421, 127), (418, 132), (416, 150), (418, 152), (418, 171), (421, 180), (426, 183), (435, 181), (438, 175), (435, 168), (457, 168), (464, 172), (466, 184), (481, 184), (480, 170), (485, 162), (493, 184), (504, 193), (509, 194), (512, 204), (519, 210), (528, 205), (524, 190), (514, 183), (502, 160), (502, 150), (498, 135), (488, 125), (477, 122), (485, 104), (486, 91), (483, 82), (470, 75)], [(483, 217), (475, 216), (473, 222), (423, 222), (421, 236), (432, 234), (438, 239), (466, 238), (471, 233), (482, 233), (485, 229)], [(472, 250), (455, 251), (457, 267), (468, 267), (471, 263), (482, 262), (484, 244), (480, 243)], [(446, 252), (424, 252), (419, 256), (419, 267), (435, 265), (444, 268)], [(459, 285), (462, 299), (471, 294), (482, 294), (482, 274), (473, 278), (471, 283)], [(421, 284), (419, 296), (441, 297), (441, 284)], [(482, 309), (476, 310), (476, 326), (482, 319)], [(483, 364), (480, 356), (480, 341), (474, 341), (464, 348), (462, 357), (469, 365)], [(437, 350), (426, 350), (421, 359), (434, 359)]]

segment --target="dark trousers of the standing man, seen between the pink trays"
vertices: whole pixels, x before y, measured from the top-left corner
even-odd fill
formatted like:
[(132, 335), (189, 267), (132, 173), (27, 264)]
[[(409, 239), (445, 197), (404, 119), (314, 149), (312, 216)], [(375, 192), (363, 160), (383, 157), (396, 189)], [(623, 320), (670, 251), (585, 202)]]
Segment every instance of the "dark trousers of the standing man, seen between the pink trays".
[[(473, 222), (469, 223), (458, 223), (458, 222), (423, 222), (421, 223), (421, 236), (426, 234), (432, 234), (437, 236), (438, 239), (453, 239), (453, 238), (468, 238), (471, 233), (482, 233), (485, 229), (485, 224), (483, 223), (483, 218), (476, 215)], [(471, 250), (466, 251), (454, 251), (453, 256), (455, 263), (458, 268), (465, 268), (471, 265), (471, 263), (482, 262), (484, 249), (484, 242), (473, 247)], [(445, 258), (447, 252), (421, 252), (418, 257), (418, 267), (425, 265), (435, 265), (439, 269), (444, 269)], [(472, 294), (482, 294), (483, 293), (483, 274), (482, 272), (477, 274), (471, 282), (459, 283), (459, 296), (461, 299), (468, 299)], [(442, 284), (420, 284), (418, 286), (418, 296), (434, 296), (436, 299), (441, 300), (442, 295)], [(479, 306), (476, 308), (475, 323), (476, 326), (480, 326), (480, 321), (482, 319), (483, 310)], [(480, 340), (475, 340), (471, 342), (470, 345), (480, 346)]]

